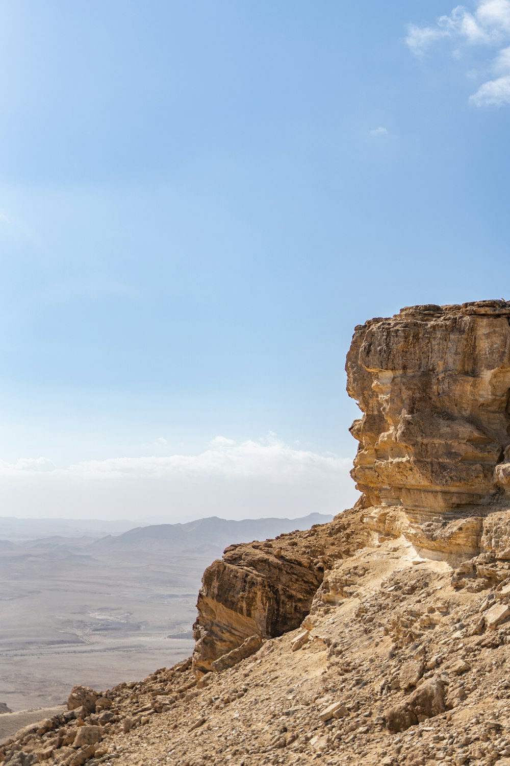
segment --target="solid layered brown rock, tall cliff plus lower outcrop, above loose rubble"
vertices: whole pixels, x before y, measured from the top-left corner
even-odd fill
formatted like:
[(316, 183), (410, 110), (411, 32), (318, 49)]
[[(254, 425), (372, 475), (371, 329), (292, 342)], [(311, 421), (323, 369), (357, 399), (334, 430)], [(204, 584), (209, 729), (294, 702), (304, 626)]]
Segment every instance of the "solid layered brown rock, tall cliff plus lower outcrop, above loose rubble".
[(510, 303), (414, 306), (370, 319), (356, 327), (346, 371), (363, 413), (351, 428), (356, 510), (292, 542), (281, 535), (226, 549), (203, 577), (197, 674), (251, 637), (298, 627), (327, 561), (351, 555), (369, 533), (379, 543), (402, 537), (453, 565), (510, 550), (505, 534), (484, 526), (489, 511), (510, 505)]

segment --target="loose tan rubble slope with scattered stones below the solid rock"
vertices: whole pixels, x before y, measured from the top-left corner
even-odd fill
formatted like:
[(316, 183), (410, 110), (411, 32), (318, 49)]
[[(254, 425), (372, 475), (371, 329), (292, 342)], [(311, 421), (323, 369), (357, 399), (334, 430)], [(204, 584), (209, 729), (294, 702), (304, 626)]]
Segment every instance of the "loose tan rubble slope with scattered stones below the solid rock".
[[(328, 527), (329, 525), (325, 525)], [(510, 566), (455, 570), (405, 538), (326, 571), (297, 630), (197, 679), (187, 660), (2, 745), (49, 764), (510, 764)], [(490, 558), (490, 555), (485, 555)]]

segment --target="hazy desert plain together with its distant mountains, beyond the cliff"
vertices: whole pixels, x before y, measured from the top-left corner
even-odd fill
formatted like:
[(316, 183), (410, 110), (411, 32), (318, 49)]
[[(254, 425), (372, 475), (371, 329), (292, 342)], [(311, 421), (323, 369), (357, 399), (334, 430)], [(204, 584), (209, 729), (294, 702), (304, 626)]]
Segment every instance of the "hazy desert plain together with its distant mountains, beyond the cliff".
[(106, 689), (183, 660), (203, 571), (223, 548), (324, 519), (202, 519), (99, 539), (2, 530), (15, 542), (0, 540), (0, 702), (60, 705), (77, 683)]

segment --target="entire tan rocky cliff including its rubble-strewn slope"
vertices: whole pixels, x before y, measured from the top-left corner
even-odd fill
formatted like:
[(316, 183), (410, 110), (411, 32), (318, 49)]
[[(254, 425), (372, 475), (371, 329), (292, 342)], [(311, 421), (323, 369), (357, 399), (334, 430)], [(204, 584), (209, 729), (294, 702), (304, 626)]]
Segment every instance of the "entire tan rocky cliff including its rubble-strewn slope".
[(193, 662), (73, 690), (0, 761), (510, 766), (509, 316), (484, 301), (357, 327), (356, 508), (227, 548)]

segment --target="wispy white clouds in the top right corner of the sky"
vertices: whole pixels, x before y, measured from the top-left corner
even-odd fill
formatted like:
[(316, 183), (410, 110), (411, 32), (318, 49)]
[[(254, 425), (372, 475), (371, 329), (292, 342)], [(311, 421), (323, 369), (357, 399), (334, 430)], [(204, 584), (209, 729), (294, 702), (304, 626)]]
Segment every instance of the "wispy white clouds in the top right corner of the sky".
[(491, 52), (480, 73), (488, 77), (469, 97), (473, 106), (510, 104), (510, 0), (477, 0), (473, 12), (457, 5), (434, 25), (408, 26), (406, 43), (417, 57), (434, 44), (447, 41), (453, 55), (460, 57), (463, 46), (482, 46)]

